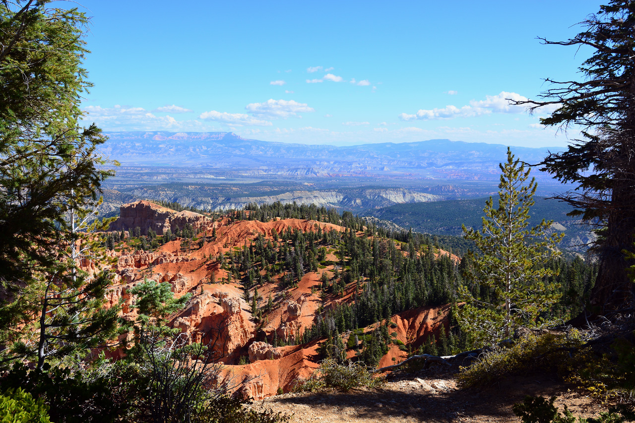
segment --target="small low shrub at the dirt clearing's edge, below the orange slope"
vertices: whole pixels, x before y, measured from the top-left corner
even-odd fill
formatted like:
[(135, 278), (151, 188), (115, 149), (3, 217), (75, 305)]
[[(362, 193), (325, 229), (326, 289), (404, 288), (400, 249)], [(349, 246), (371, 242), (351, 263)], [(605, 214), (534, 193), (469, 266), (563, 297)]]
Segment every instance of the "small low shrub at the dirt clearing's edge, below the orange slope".
[(296, 392), (316, 392), (327, 388), (349, 391), (354, 387), (376, 388), (384, 383), (384, 379), (374, 377), (363, 363), (348, 361), (340, 365), (334, 359), (328, 358), (320, 363), (319, 368), (309, 377), (298, 384)]

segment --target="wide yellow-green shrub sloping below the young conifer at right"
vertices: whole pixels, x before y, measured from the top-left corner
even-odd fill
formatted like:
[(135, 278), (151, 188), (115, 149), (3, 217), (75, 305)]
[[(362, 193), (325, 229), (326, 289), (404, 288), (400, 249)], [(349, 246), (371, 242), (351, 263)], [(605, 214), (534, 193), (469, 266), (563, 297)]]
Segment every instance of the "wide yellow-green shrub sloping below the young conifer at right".
[(535, 371), (556, 372), (566, 377), (582, 364), (584, 354), (576, 354), (572, 358), (568, 351), (556, 350), (559, 347), (578, 347), (583, 343), (576, 330), (530, 334), (511, 347), (495, 347), (481, 354), (476, 363), (461, 368), (458, 383), (462, 387), (487, 386), (510, 375), (526, 375)]

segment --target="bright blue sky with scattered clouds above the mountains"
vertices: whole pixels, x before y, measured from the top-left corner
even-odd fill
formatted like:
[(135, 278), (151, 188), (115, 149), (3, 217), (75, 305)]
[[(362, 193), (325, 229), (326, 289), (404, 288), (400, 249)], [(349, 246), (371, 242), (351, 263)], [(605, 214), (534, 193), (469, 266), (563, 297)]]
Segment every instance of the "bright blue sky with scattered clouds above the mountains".
[[(82, 1), (83, 107), (104, 130), (305, 144), (566, 145), (504, 98), (579, 78), (565, 39), (599, 1)], [(544, 114), (544, 113), (543, 113)]]

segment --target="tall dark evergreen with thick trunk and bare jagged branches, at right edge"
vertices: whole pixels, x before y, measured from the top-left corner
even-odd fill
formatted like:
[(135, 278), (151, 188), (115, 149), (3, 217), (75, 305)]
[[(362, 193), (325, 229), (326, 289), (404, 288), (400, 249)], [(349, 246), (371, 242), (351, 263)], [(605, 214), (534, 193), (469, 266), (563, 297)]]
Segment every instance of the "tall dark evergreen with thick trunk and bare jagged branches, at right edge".
[(531, 111), (556, 105), (551, 116), (540, 119), (542, 124), (582, 128), (582, 139), (567, 151), (549, 154), (542, 170), (577, 185), (555, 198), (599, 229), (593, 245), (599, 271), (591, 304), (601, 312), (635, 297), (627, 272), (635, 260), (625, 255), (635, 252), (635, 4), (610, 0), (581, 25), (584, 30), (566, 41), (542, 39), (544, 44), (591, 51), (579, 68), (581, 80), (546, 79), (553, 88), (542, 93), (542, 100), (515, 104), (530, 105)]

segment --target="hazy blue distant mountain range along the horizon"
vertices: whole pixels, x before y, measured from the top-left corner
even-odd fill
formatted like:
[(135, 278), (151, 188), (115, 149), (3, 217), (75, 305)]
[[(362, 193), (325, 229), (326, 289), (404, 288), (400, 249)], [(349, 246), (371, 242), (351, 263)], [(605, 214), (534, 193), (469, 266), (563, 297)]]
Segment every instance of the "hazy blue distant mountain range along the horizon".
[[(492, 180), (507, 147), (499, 144), (427, 140), (349, 147), (250, 140), (231, 132), (109, 132), (102, 147), (126, 166), (171, 166), (297, 177), (373, 176)], [(559, 151), (555, 147), (551, 151)], [(545, 148), (513, 147), (527, 163)], [(540, 176), (536, 173), (536, 176)], [(545, 175), (546, 176), (546, 175)]]

